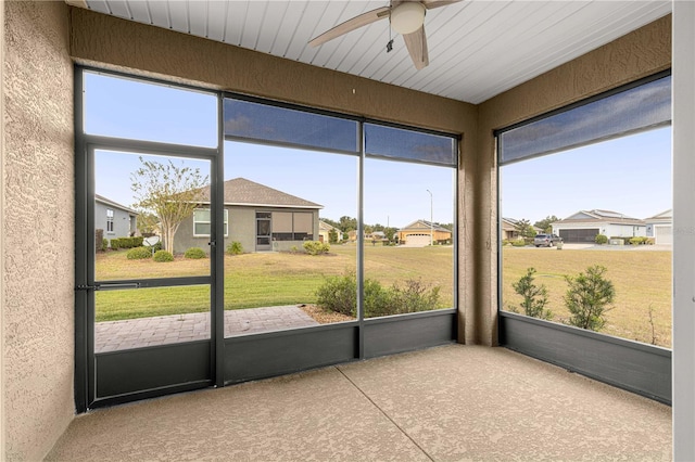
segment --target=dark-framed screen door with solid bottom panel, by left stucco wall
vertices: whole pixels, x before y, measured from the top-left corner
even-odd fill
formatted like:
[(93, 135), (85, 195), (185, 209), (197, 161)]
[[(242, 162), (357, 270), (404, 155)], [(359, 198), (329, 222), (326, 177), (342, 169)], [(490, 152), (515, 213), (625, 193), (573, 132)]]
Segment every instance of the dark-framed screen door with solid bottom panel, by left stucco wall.
[(113, 143), (84, 164), (88, 408), (214, 380), (213, 159)]

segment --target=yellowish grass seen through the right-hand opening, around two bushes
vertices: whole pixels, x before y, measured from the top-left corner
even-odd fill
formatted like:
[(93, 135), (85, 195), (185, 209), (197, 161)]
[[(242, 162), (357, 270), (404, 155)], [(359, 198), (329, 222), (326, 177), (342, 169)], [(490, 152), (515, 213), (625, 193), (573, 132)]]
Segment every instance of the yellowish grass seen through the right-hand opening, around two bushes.
[(527, 268), (536, 269), (535, 284), (548, 291), (548, 307), (554, 321), (569, 318), (563, 297), (565, 275), (577, 275), (592, 265), (608, 269), (606, 278), (616, 288), (614, 308), (607, 312), (602, 332), (623, 338), (653, 343), (649, 307), (653, 309), (655, 342), (671, 347), (671, 252), (652, 249), (568, 249), (504, 247), (503, 306), (519, 306), (521, 297), (511, 284)]

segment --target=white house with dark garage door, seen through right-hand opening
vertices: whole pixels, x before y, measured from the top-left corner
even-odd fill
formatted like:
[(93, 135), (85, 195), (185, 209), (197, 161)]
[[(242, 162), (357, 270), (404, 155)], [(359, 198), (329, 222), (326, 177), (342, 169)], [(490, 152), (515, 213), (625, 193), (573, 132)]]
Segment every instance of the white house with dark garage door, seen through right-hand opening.
[(566, 243), (591, 243), (597, 234), (608, 238), (646, 236), (646, 222), (610, 210), (580, 210), (564, 220), (551, 223), (553, 234)]

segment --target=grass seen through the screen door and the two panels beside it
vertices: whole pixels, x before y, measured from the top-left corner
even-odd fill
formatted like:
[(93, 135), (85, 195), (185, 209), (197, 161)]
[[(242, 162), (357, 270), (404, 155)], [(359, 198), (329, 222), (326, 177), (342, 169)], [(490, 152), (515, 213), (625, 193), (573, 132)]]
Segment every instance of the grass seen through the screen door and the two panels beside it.
[[(258, 253), (225, 256), (225, 309), (313, 304), (326, 277), (356, 268), (356, 247), (337, 245), (329, 255)], [(126, 252), (97, 255), (97, 279), (172, 278), (210, 274), (210, 259), (177, 257), (170, 264), (128, 260)], [(452, 247), (365, 247), (365, 273), (383, 286), (422, 278), (439, 285), (441, 307), (453, 306)], [(97, 322), (202, 312), (210, 309), (204, 286), (97, 292)]]

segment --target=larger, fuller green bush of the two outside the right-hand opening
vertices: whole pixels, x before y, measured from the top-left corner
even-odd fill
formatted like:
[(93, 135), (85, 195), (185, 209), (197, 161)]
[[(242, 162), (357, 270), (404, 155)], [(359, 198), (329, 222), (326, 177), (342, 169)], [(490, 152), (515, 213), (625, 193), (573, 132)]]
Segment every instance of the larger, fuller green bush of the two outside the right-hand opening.
[(606, 324), (605, 313), (616, 296), (612, 282), (604, 278), (606, 268), (595, 265), (576, 278), (565, 277), (569, 284), (565, 305), (572, 315), (569, 323), (577, 328), (599, 331)]

